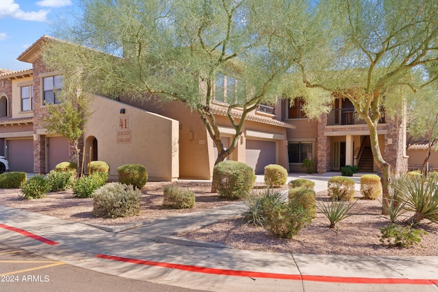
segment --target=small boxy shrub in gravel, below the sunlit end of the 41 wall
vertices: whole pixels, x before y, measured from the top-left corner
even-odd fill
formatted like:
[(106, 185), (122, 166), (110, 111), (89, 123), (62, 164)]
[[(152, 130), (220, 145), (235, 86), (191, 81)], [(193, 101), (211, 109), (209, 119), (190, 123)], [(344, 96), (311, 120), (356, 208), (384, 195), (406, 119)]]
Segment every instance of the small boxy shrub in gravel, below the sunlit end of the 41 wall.
[(172, 209), (189, 209), (195, 204), (193, 191), (177, 185), (166, 185), (164, 187), (163, 207)]

